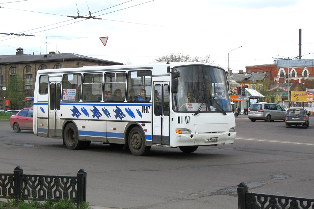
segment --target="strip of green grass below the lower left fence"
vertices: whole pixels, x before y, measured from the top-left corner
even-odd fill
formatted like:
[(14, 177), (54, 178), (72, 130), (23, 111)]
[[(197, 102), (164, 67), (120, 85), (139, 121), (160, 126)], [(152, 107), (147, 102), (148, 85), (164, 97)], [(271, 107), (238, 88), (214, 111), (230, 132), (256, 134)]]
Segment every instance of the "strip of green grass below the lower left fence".
[(91, 209), (89, 202), (81, 202), (79, 206), (76, 206), (70, 200), (60, 200), (58, 202), (52, 200), (46, 200), (44, 202), (39, 201), (17, 201), (15, 199), (8, 201), (0, 201), (0, 209)]

